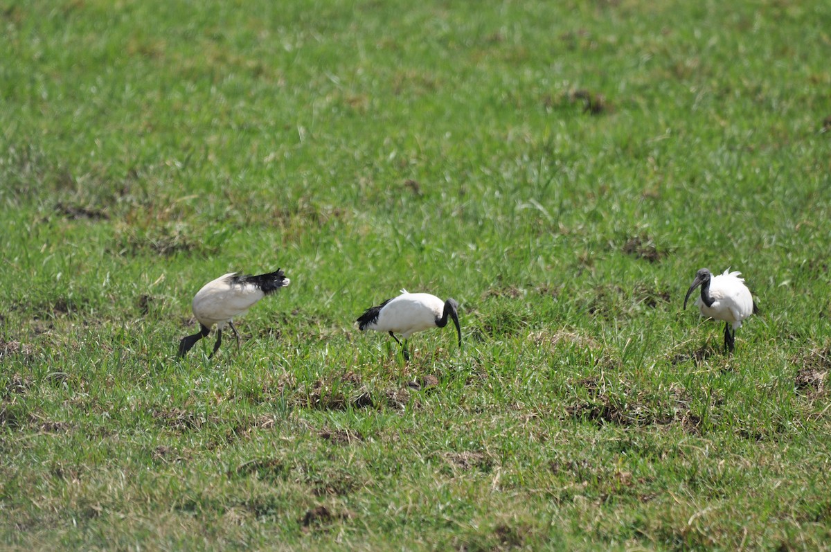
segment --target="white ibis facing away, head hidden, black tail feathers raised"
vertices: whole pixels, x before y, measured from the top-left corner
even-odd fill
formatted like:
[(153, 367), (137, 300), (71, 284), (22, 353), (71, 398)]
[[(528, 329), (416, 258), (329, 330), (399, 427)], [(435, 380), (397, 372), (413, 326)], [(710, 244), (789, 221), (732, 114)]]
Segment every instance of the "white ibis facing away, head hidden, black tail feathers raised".
[(216, 343), (210, 357), (219, 350), (222, 330), (226, 324), (234, 331), (239, 347), (239, 334), (231, 318), (242, 316), (254, 303), (279, 288), (285, 288), (289, 283), (290, 280), (283, 274), (283, 270), (277, 269), (258, 276), (231, 272), (204, 284), (196, 293), (193, 303), (194, 316), (199, 320), (199, 332), (182, 338), (179, 342), (179, 357), (184, 357), (199, 339), (207, 338), (214, 324), (217, 328)]

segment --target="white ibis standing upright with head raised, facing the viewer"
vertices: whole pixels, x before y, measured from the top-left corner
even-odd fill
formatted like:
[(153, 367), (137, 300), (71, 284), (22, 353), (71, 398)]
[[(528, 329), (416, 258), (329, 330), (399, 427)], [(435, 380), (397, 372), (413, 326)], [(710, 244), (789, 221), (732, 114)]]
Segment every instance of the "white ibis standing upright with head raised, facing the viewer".
[[(739, 278), (740, 272), (725, 270), (724, 274), (713, 277), (709, 269), (696, 272), (690, 289), (684, 298), (690, 298), (692, 290), (701, 286), (701, 297), (696, 298), (701, 316), (725, 322), (725, 349), (733, 352), (735, 347), (735, 330), (741, 328), (742, 321), (751, 314), (759, 313), (759, 307), (745, 286), (745, 278)], [(733, 332), (730, 333), (730, 328)]]

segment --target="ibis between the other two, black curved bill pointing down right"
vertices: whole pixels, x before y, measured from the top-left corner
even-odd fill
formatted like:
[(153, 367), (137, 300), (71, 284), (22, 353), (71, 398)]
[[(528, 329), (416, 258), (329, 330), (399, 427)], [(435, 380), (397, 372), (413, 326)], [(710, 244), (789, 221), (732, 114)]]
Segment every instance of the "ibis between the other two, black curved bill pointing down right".
[[(389, 332), (401, 345), (405, 360), (410, 360), (407, 338), (426, 329), (444, 328), (447, 325), (447, 317), (453, 318), (456, 333), (459, 335), (459, 347), (462, 346), (458, 309), (459, 303), (456, 303), (455, 299), (442, 301), (430, 293), (409, 293), (402, 289), (398, 297), (387, 299), (377, 307), (367, 308), (356, 322), (361, 332), (366, 329)], [(401, 334), (404, 343), (396, 338), (396, 333)]]

